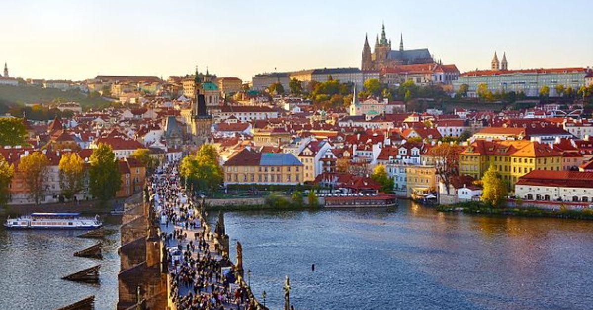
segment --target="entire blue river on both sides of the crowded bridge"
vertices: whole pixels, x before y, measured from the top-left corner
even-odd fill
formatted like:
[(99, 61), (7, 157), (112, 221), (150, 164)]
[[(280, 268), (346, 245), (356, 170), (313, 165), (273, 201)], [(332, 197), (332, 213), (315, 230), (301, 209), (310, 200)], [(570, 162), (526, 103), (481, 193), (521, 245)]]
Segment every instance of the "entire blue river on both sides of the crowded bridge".
[[(401, 203), (227, 212), (231, 256), (240, 241), (253, 292), (263, 301), (265, 290), (272, 309), (282, 308), (285, 275), (295, 309), (591, 308), (593, 221), (444, 214)], [(0, 309), (55, 309), (91, 294), (97, 309), (114, 309), (118, 219), (106, 228), (116, 233), (104, 241), (103, 260), (72, 255), (98, 242), (76, 238), (79, 231), (0, 228)], [(60, 280), (98, 263), (98, 285)]]

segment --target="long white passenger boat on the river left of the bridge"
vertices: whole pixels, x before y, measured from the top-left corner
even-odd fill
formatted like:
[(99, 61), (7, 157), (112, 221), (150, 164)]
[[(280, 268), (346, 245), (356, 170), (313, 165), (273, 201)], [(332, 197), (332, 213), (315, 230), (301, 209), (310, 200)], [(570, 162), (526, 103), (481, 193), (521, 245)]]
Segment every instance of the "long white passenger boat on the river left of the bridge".
[(8, 218), (7, 228), (95, 229), (103, 226), (99, 216), (84, 217), (76, 212), (37, 212)]

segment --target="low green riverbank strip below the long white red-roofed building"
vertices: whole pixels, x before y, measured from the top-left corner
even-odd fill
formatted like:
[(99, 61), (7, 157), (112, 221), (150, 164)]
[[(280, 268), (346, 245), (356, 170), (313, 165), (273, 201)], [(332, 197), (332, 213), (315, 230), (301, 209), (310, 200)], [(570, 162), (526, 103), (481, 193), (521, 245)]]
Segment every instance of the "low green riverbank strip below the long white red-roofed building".
[(562, 218), (562, 219), (593, 219), (593, 210), (546, 210), (537, 207), (490, 207), (480, 202), (464, 202), (436, 207), (439, 212), (461, 212), (467, 214), (486, 214), (501, 216), (526, 216), (536, 218)]

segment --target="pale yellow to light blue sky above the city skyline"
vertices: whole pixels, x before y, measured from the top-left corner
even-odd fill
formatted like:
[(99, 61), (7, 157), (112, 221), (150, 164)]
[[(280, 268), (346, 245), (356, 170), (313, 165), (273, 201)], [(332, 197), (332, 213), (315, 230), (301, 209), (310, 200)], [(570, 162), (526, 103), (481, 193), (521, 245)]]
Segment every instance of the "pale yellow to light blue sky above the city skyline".
[(381, 23), (398, 48), (427, 47), (461, 72), (593, 66), (593, 1), (0, 0), (0, 62), (11, 76), (184, 75), (361, 65)]

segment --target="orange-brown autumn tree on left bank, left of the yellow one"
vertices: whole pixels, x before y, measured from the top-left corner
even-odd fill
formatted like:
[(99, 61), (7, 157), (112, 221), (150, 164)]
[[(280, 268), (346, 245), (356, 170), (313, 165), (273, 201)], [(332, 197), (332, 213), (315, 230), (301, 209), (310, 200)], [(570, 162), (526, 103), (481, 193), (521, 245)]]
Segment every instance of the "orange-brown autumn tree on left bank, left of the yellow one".
[(39, 204), (46, 190), (48, 165), (49, 159), (42, 152), (24, 156), (18, 164), (18, 171), (23, 175), (25, 186), (35, 205)]

